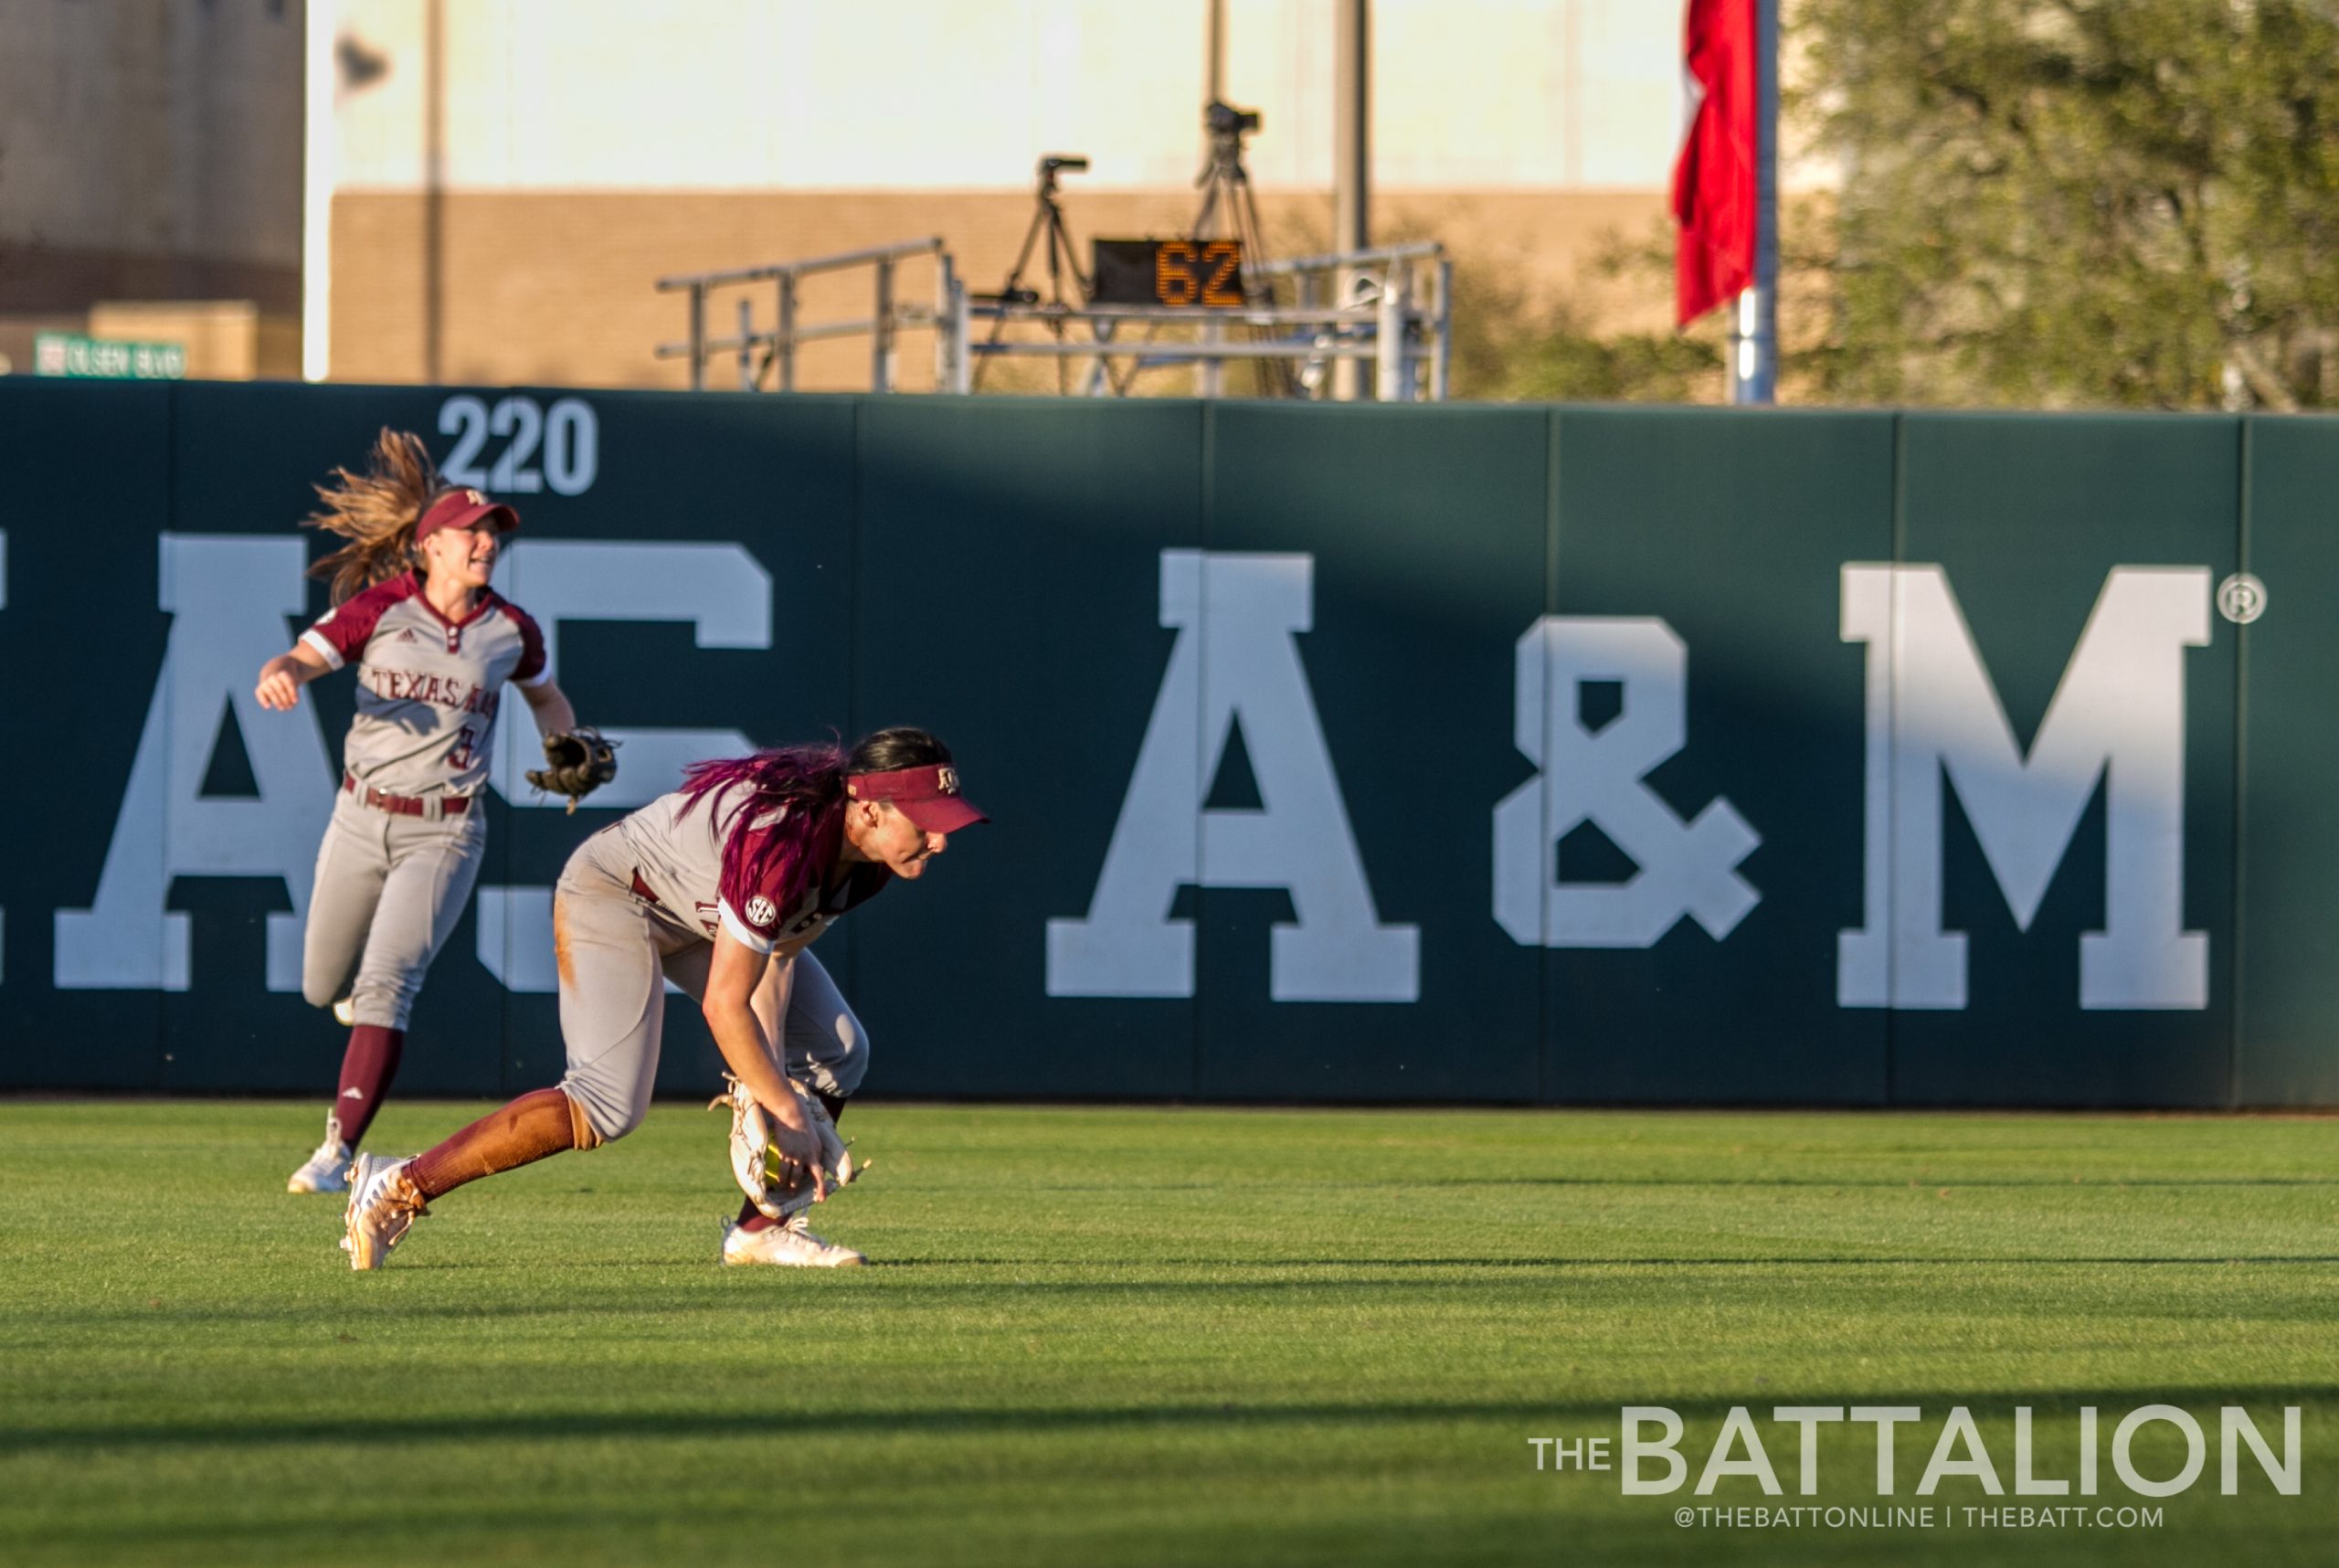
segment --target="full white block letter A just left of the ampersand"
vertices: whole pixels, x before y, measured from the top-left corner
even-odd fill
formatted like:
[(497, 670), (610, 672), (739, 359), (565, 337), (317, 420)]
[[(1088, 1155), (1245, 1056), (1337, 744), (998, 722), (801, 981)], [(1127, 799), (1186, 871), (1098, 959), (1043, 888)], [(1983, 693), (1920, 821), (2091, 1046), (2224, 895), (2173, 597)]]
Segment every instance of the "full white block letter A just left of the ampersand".
[[(1162, 550), (1177, 630), (1137, 772), (1085, 920), (1048, 922), (1050, 997), (1191, 997), (1181, 887), (1277, 887), (1275, 1002), (1415, 1002), (1420, 929), (1380, 924), (1296, 637), (1315, 625), (1315, 557)], [(1242, 723), (1258, 810), (1205, 810)]]

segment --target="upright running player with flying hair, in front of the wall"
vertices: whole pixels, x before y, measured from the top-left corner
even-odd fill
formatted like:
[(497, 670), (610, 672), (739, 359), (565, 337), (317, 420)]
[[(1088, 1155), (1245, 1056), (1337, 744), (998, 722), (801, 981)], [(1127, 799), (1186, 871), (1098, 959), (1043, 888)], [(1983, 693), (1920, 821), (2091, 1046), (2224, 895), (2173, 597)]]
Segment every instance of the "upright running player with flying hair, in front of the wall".
[[(580, 751), (608, 758), (608, 742), (578, 730), (547, 676), (536, 623), (487, 585), (503, 536), (519, 527), (512, 508), (444, 487), (421, 438), (402, 431), (379, 435), (367, 473), (339, 468), (318, 496), (325, 506), (306, 524), (349, 541), (313, 569), (332, 578), (334, 606), (260, 667), (257, 688), (260, 707), (292, 709), (304, 683), (358, 667), (358, 716), (302, 953), (302, 995), (349, 1025), (349, 1051), (325, 1142), (285, 1182), (290, 1191), (349, 1187), (351, 1149), (398, 1074), (423, 971), (479, 875), (479, 791), (505, 681), (526, 697), (557, 765)], [(571, 800), (601, 777), (571, 772), (529, 777)]]

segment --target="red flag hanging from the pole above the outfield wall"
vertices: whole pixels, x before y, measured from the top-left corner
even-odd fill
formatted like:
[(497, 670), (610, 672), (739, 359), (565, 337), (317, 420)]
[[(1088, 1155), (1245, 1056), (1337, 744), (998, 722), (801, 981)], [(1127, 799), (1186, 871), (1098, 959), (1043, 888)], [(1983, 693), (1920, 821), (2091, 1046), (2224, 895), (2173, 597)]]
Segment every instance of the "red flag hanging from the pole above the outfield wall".
[(1679, 325), (1754, 281), (1757, 133), (1754, 0), (1689, 0), (1684, 70), (1693, 105), (1672, 166)]

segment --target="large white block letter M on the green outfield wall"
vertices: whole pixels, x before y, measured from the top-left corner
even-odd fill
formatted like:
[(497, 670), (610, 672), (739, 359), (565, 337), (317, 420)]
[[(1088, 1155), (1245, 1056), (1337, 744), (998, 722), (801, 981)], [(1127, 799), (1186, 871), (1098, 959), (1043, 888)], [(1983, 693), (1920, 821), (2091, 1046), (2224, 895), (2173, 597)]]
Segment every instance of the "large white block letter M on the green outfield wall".
[(1939, 566), (1843, 566), (1843, 641), (1867, 644), (1864, 924), (1836, 948), (1843, 1006), (1962, 1009), (1965, 934), (1941, 929), (1941, 782), (2023, 931), (2098, 784), (2105, 929), (2079, 936), (2082, 1009), (2208, 1006), (2185, 922), (2185, 648), (2208, 646), (2206, 566), (2114, 566), (2028, 756)]

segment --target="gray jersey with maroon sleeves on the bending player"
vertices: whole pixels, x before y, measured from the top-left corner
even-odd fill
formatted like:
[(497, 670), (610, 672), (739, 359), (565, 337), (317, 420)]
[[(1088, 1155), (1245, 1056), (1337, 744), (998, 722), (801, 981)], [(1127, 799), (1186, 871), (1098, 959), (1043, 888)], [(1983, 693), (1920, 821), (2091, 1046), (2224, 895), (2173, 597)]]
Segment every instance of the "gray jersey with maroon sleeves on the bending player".
[(676, 791), (603, 833), (625, 845), (634, 861), (632, 894), (650, 903), (664, 924), (702, 941), (723, 929), (755, 953), (798, 936), (819, 936), (830, 920), (893, 880), (884, 866), (854, 864), (835, 889), (814, 885), (791, 908), (779, 908), (777, 868), (767, 866), (758, 875), (755, 864), (765, 859), (763, 850), (784, 810), (755, 817), (746, 810), (746, 791), (739, 786), (718, 789), (697, 805)]

